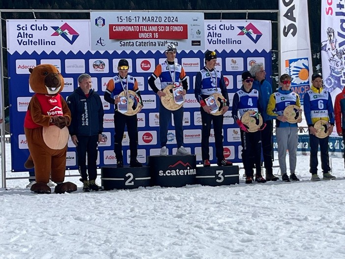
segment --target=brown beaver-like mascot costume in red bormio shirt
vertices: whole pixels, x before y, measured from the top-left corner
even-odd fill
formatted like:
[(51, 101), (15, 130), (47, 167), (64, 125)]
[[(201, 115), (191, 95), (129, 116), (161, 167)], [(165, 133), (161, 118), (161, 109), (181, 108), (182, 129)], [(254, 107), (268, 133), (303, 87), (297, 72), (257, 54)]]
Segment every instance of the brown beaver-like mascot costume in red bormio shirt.
[(58, 69), (50, 64), (30, 68), (29, 83), (35, 92), (24, 120), (24, 131), (33, 161), (36, 183), (31, 186), (35, 193), (51, 193), (47, 185), (50, 176), (57, 183), (54, 192), (65, 193), (77, 190), (77, 185), (63, 182), (66, 168), (68, 128), (71, 112), (59, 94), (64, 80)]

